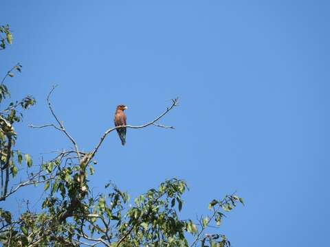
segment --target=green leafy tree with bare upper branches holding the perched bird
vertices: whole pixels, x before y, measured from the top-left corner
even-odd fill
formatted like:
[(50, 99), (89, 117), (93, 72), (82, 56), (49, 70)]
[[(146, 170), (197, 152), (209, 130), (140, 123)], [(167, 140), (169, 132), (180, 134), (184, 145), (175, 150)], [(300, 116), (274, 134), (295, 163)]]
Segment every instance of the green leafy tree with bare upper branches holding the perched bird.
[[(9, 27), (1, 26), (1, 33), (7, 32)], [(5, 40), (1, 42), (4, 49)], [(7, 43), (12, 43), (11, 34)], [(21, 72), (21, 68), (21, 64), (15, 65), (5, 78), (14, 77), (14, 71)], [(10, 99), (8, 88), (3, 84), (5, 78), (0, 85), (0, 104)], [(196, 222), (179, 217), (184, 207), (182, 196), (188, 188), (184, 180), (177, 178), (164, 181), (157, 189), (149, 189), (134, 200), (114, 183), (105, 185), (104, 193), (94, 195), (89, 189), (96, 165), (94, 157), (103, 139), (115, 128), (107, 130), (91, 152), (80, 152), (76, 141), (56, 117), (49, 98), (50, 95), (48, 104), (58, 125), (36, 128), (56, 128), (72, 142), (73, 149), (58, 152), (40, 165), (34, 164), (29, 154), (12, 150), (17, 140), (13, 126), (21, 121), (21, 110), (33, 106), (35, 99), (27, 96), (21, 101), (10, 102), (0, 111), (1, 172), (5, 172), (0, 200), (28, 185), (43, 184), (45, 193), (40, 212), (32, 212), (27, 207), (21, 215), (13, 215), (0, 208), (0, 242), (3, 246), (230, 246), (225, 235), (206, 231), (212, 226), (214, 232), (214, 227), (221, 226), (225, 212), (238, 203), (243, 204), (243, 199), (235, 194), (212, 200), (209, 214)], [(177, 99), (173, 100), (173, 106), (176, 103)], [(8, 191), (10, 175), (17, 176), (18, 167), (23, 166), (30, 171), (27, 180)]]

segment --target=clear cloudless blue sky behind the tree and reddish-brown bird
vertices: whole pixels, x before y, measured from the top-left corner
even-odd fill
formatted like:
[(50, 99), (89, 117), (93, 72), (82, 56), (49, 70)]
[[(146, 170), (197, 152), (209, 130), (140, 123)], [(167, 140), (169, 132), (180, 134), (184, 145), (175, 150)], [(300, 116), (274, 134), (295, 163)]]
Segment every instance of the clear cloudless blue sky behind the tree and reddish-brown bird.
[(194, 219), (237, 190), (246, 206), (221, 230), (233, 246), (327, 246), (329, 12), (329, 1), (3, 1), (14, 45), (1, 74), (21, 62), (12, 97), (38, 100), (18, 147), (35, 162), (70, 148), (59, 132), (26, 127), (53, 121), (53, 84), (56, 113), (85, 151), (113, 126), (117, 104), (138, 125), (179, 96), (162, 121), (176, 130), (128, 130), (124, 147), (109, 136), (92, 187), (113, 180), (136, 196), (183, 178), (183, 217)]

